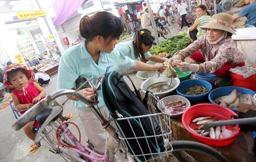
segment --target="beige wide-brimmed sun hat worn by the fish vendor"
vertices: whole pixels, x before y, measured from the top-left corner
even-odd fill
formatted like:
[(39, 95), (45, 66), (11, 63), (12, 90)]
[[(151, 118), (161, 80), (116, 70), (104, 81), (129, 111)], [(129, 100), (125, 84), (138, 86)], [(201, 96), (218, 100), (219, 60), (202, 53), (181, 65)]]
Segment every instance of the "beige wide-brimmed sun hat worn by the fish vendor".
[(233, 16), (228, 13), (218, 13), (211, 17), (211, 20), (208, 24), (200, 26), (201, 29), (219, 29), (230, 32), (236, 35), (234, 26), (232, 25)]

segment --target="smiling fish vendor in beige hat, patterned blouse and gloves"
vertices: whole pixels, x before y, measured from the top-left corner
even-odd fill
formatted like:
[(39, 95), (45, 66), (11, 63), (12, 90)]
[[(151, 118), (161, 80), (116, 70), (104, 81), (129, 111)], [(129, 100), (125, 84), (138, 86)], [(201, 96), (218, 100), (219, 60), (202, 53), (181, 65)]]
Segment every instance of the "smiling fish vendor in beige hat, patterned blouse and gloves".
[[(189, 55), (195, 62), (200, 64), (189, 64), (182, 62), (176, 65), (182, 71), (203, 71), (213, 73), (217, 76), (228, 75), (229, 69), (236, 66), (245, 65), (245, 56), (237, 49), (231, 36), (235, 33), (232, 26), (233, 17), (227, 13), (215, 14), (208, 24), (200, 26), (206, 30), (206, 34), (198, 38), (197, 41), (169, 59), (183, 60)], [(200, 49), (200, 51), (198, 51)], [(195, 52), (197, 51), (197, 52)], [(195, 53), (194, 53), (195, 52)], [(175, 65), (175, 63), (172, 63)]]

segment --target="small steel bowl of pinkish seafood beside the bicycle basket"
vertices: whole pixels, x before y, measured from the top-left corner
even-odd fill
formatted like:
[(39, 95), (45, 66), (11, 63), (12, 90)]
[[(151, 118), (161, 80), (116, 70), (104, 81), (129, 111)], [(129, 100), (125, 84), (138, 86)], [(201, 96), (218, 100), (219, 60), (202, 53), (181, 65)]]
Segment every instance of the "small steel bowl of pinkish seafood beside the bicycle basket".
[[(183, 96), (180, 96), (180, 95), (172, 95), (172, 96), (166, 96), (166, 97), (162, 98), (161, 100), (159, 100), (159, 102), (161, 104), (160, 105), (158, 104), (158, 107), (162, 110), (167, 103), (177, 102), (177, 101), (181, 101), (182, 103), (186, 103), (186, 109), (189, 108), (190, 105), (191, 105), (189, 100), (186, 97), (183, 97)], [(163, 112), (163, 113), (165, 113), (165, 112)], [(167, 114), (170, 117), (178, 117), (178, 116), (182, 116), (183, 113), (184, 113), (184, 111), (181, 112), (181, 113), (174, 113), (174, 114), (165, 113), (165, 114)]]

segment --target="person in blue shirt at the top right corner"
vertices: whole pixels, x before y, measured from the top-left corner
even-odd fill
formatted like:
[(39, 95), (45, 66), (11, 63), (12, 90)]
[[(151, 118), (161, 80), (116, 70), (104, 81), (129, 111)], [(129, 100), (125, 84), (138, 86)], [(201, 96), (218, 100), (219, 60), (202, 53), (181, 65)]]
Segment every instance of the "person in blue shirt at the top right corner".
[(245, 16), (247, 18), (245, 27), (250, 25), (256, 27), (256, 0), (245, 0), (245, 3), (249, 5), (242, 8), (238, 14), (234, 14), (233, 21)]

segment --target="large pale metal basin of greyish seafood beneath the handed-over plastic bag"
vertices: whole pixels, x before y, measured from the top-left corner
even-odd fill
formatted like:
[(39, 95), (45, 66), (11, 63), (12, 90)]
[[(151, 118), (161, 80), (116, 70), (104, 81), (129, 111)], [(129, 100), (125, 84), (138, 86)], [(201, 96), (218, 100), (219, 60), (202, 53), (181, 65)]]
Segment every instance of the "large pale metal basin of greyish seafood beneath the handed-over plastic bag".
[(159, 78), (156, 78), (156, 77), (147, 78), (140, 85), (140, 89), (142, 89), (143, 93), (146, 93), (145, 90), (152, 84), (159, 83), (159, 82), (165, 82), (165, 81), (172, 82), (175, 86), (168, 91), (153, 93), (153, 94), (155, 94), (156, 97), (159, 97), (159, 99), (161, 99), (163, 97), (170, 96), (171, 94), (173, 94), (175, 92), (175, 89), (180, 85), (180, 80), (178, 78), (167, 78), (164, 75), (159, 76)]

